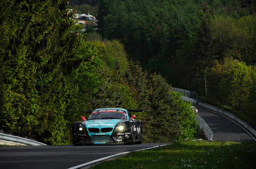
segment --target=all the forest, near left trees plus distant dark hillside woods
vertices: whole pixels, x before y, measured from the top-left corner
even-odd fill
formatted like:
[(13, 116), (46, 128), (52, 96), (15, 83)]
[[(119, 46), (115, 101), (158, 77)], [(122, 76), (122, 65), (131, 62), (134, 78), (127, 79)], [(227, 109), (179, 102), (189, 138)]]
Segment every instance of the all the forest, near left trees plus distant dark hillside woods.
[[(255, 0), (8, 0), (0, 9), (0, 129), (69, 144), (86, 109), (142, 108), (145, 142), (196, 131), (198, 92), (256, 120)], [(79, 33), (75, 13), (99, 28)], [(157, 133), (157, 134), (156, 134)]]

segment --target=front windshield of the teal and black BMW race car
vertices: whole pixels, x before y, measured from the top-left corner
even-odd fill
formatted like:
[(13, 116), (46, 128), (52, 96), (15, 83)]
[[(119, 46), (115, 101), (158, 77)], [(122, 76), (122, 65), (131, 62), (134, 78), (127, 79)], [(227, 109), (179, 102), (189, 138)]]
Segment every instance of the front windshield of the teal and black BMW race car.
[(125, 119), (127, 120), (127, 114), (124, 111), (94, 111), (91, 113), (87, 120), (94, 120), (94, 119)]

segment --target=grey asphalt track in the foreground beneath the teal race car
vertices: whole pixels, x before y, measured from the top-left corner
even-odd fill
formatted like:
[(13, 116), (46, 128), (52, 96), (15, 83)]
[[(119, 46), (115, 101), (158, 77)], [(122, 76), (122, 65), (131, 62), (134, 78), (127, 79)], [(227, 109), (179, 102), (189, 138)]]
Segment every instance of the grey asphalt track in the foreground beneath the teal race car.
[(68, 169), (109, 155), (164, 144), (0, 147), (0, 169)]

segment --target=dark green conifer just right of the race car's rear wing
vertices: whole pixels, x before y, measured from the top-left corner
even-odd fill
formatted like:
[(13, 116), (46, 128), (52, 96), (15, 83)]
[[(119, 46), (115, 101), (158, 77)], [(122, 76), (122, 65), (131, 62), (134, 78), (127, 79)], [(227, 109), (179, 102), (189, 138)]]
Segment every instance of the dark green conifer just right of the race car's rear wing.
[[(160, 75), (152, 74), (147, 83), (149, 110), (145, 116), (145, 134), (149, 142), (172, 142), (179, 134), (179, 114), (175, 109), (171, 86)], [(178, 98), (179, 99), (179, 98)]]

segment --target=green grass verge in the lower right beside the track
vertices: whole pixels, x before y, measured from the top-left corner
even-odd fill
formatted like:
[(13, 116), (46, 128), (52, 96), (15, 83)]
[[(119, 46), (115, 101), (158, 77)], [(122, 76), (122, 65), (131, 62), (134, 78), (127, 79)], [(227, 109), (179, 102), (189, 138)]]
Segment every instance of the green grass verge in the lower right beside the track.
[(91, 169), (256, 169), (256, 143), (185, 141), (131, 152)]

